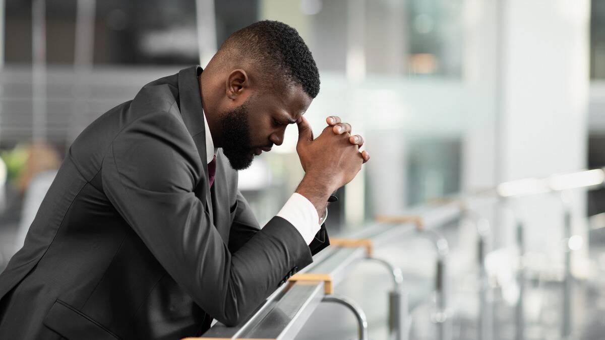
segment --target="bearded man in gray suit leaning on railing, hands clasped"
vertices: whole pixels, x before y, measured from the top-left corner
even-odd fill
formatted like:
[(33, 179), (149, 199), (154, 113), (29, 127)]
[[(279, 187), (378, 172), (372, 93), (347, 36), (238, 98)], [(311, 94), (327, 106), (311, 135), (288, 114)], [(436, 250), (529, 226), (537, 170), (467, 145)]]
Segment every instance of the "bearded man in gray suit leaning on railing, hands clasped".
[[(243, 321), (329, 244), (327, 199), (369, 159), (338, 117), (313, 139), (302, 114), (318, 91), (298, 33), (264, 21), (203, 72), (155, 80), (99, 117), (0, 275), (0, 338), (178, 339)], [(290, 123), (306, 175), (260, 229), (236, 170)]]

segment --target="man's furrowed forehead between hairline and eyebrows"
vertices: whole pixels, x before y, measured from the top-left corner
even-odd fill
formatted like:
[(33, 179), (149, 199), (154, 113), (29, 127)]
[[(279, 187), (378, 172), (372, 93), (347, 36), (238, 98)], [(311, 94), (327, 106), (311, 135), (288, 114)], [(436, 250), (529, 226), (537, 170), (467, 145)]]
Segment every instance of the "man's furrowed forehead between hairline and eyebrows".
[(313, 100), (300, 85), (273, 87), (262, 92), (257, 100), (260, 106), (273, 111), (286, 111), (292, 119), (302, 116)]

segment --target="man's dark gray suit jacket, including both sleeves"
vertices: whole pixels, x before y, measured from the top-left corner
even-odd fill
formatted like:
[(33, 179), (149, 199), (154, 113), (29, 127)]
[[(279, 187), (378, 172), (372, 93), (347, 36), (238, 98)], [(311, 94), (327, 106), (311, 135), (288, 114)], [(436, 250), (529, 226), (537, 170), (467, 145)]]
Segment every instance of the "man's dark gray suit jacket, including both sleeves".
[(197, 74), (151, 82), (74, 141), (0, 275), (0, 339), (178, 339), (244, 319), (329, 244), (260, 229), (218, 154)]

